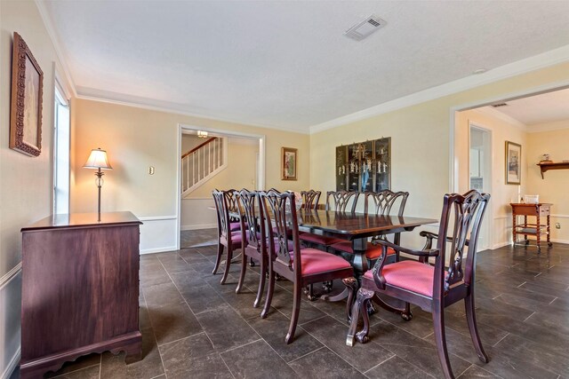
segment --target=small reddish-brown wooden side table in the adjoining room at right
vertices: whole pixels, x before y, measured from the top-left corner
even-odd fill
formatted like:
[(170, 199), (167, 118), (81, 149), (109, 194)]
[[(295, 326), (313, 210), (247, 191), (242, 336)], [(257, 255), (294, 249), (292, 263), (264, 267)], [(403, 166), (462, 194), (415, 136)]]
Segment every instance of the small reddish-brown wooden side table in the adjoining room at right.
[[(552, 246), (550, 239), (550, 225), (549, 217), (551, 215), (551, 206), (553, 204), (540, 202), (537, 204), (527, 204), (523, 202), (510, 202), (509, 205), (512, 207), (512, 217), (513, 217), (513, 228), (512, 228), (512, 239), (514, 244), (517, 242), (517, 234), (524, 234), (525, 245), (529, 244), (527, 239), (528, 235), (534, 235), (536, 238), (537, 249), (541, 251), (541, 234), (546, 234), (548, 246)], [(518, 224), (517, 216), (524, 216), (524, 222)], [(527, 217), (535, 217), (535, 224), (528, 224)], [(545, 217), (545, 224), (543, 222), (543, 217)]]

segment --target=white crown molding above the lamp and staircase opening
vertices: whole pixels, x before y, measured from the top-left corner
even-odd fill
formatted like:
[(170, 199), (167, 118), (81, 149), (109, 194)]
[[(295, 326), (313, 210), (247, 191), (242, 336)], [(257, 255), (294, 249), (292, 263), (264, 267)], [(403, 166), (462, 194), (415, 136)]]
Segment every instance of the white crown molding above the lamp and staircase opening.
[(108, 104), (115, 104), (119, 106), (126, 106), (126, 107), (137, 107), (141, 109), (147, 109), (151, 111), (157, 112), (165, 112), (169, 114), (180, 114), (189, 117), (196, 117), (205, 120), (217, 121), (217, 122), (229, 122), (229, 123), (237, 123), (246, 126), (252, 126), (255, 128), (261, 129), (271, 129), (271, 130), (280, 130), (280, 131), (288, 131), (292, 133), (299, 133), (299, 134), (309, 134), (309, 130), (306, 129), (293, 129), (290, 127), (281, 127), (276, 125), (267, 125), (267, 124), (259, 124), (259, 123), (252, 123), (246, 122), (244, 120), (237, 120), (237, 119), (229, 119), (224, 117), (215, 117), (206, 114), (196, 114), (193, 112), (188, 112), (185, 110), (188, 106), (184, 106), (182, 104), (172, 103), (168, 101), (160, 101), (155, 99), (145, 99), (139, 98), (131, 95), (124, 95), (118, 94), (114, 92), (108, 91), (100, 91), (92, 88), (86, 87), (77, 87), (77, 99), (85, 99), (85, 100), (92, 100), (92, 101), (100, 101), (103, 103)]

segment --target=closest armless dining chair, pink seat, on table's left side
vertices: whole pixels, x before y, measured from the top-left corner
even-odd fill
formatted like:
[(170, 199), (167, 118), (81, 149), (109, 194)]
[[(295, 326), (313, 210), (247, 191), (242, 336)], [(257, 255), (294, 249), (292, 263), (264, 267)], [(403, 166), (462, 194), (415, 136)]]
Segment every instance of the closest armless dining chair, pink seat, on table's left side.
[[(293, 314), (284, 338), (285, 343), (292, 343), (301, 311), (303, 288), (315, 282), (353, 278), (354, 271), (341, 257), (317, 249), (301, 249), (294, 193), (260, 192), (260, 199), (261, 218), (266, 216), (268, 241), (276, 242), (268, 243), (268, 289), (260, 316), (266, 318), (268, 315), (276, 274), (293, 281)], [(273, 224), (274, 228), (271, 227)], [(287, 240), (289, 230), (293, 235), (293, 249)]]

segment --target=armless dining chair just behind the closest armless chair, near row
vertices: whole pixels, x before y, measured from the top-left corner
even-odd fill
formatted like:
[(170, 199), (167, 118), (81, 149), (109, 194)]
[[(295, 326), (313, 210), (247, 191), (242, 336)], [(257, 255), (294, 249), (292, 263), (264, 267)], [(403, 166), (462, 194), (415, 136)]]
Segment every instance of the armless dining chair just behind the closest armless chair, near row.
[[(241, 292), (245, 272), (247, 270), (247, 257), (256, 260), (260, 264), (259, 287), (257, 296), (253, 302), (253, 307), (258, 307), (265, 288), (265, 278), (267, 276), (267, 233), (265, 232), (265, 222), (260, 220), (259, 196), (255, 191), (235, 191), (237, 209), (240, 209), (239, 219), (241, 222), (241, 273), (237, 282), (236, 293)], [(248, 222), (247, 222), (248, 221)]]

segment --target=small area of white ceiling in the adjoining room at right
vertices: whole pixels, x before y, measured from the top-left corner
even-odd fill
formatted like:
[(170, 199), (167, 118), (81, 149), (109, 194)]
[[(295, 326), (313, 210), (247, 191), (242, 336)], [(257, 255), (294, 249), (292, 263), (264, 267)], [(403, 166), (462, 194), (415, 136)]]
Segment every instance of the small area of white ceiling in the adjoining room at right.
[[(524, 99), (505, 101), (506, 107), (495, 110), (526, 126), (544, 126), (549, 122), (569, 121), (569, 89), (542, 93)], [(533, 128), (535, 129), (535, 128)]]

